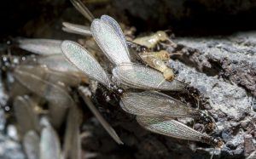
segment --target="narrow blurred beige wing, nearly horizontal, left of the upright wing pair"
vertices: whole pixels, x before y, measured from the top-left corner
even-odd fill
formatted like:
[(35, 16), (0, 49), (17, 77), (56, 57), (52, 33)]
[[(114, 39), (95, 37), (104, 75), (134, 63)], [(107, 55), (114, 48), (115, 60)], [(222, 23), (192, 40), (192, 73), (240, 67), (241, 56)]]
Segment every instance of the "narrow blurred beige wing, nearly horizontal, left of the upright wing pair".
[(82, 26), (82, 25), (72, 24), (72, 23), (68, 23), (68, 22), (63, 22), (62, 25), (64, 26), (64, 27), (62, 27), (63, 31), (74, 33), (74, 34), (79, 34), (79, 35), (83, 35), (83, 36), (91, 35), (90, 27), (88, 27), (88, 26)]

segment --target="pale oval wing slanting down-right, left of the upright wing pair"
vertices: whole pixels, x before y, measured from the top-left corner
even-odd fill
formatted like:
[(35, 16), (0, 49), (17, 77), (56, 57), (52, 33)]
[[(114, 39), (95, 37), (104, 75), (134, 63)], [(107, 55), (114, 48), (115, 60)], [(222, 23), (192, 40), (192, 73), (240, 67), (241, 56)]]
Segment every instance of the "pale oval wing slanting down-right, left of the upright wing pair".
[(102, 66), (79, 43), (64, 41), (61, 43), (61, 49), (67, 60), (77, 66), (84, 74), (109, 87), (110, 81)]

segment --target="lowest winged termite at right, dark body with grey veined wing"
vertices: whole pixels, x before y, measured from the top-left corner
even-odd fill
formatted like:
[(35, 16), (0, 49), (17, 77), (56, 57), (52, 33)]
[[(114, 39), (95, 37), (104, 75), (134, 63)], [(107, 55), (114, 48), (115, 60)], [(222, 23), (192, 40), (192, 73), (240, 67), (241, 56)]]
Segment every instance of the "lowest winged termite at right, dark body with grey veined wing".
[(224, 144), (220, 139), (195, 131), (193, 128), (189, 128), (183, 123), (173, 119), (166, 119), (165, 117), (137, 116), (137, 122), (142, 125), (143, 128), (146, 128), (153, 133), (160, 133), (172, 138), (200, 141), (217, 148), (221, 148)]

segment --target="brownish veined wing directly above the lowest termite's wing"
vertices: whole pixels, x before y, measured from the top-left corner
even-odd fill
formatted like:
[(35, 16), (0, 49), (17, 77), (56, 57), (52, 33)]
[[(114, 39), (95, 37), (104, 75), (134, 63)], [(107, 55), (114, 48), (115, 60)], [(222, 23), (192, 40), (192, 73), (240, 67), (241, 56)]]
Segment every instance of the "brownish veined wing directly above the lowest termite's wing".
[(124, 111), (137, 116), (191, 116), (197, 110), (158, 92), (126, 93), (121, 98)]

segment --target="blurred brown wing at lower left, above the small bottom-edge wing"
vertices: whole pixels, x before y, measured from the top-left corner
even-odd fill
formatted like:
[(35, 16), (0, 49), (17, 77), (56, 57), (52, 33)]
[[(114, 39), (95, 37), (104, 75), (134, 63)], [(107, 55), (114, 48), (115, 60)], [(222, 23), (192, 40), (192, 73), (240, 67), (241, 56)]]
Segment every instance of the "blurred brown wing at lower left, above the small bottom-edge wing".
[(14, 109), (21, 136), (29, 130), (40, 131), (38, 115), (34, 110), (35, 105), (32, 104), (32, 101), (28, 96), (16, 97), (14, 101)]

